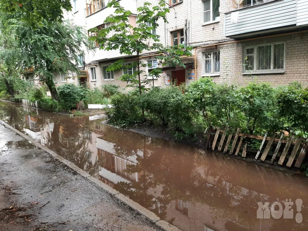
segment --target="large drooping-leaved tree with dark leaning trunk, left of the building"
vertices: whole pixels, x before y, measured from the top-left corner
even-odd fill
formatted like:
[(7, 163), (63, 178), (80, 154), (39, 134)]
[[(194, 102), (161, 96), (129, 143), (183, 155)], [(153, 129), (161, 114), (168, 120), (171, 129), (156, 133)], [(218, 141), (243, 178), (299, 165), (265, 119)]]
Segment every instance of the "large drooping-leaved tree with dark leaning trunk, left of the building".
[(77, 63), (77, 55), (83, 53), (82, 45), (92, 48), (83, 28), (69, 21), (50, 24), (43, 20), (43, 26), (36, 30), (21, 23), (18, 37), (21, 52), (25, 56), (23, 67), (34, 68), (55, 100), (59, 97), (53, 73), (78, 72), (78, 67), (72, 61)]

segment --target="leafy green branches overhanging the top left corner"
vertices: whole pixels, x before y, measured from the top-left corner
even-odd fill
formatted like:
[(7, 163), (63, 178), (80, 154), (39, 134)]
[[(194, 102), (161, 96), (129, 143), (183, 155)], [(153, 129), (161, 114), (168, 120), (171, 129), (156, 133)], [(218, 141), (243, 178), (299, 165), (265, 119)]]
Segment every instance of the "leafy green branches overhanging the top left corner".
[(32, 28), (61, 22), (63, 10), (72, 9), (70, 0), (0, 0), (0, 11), (14, 15)]

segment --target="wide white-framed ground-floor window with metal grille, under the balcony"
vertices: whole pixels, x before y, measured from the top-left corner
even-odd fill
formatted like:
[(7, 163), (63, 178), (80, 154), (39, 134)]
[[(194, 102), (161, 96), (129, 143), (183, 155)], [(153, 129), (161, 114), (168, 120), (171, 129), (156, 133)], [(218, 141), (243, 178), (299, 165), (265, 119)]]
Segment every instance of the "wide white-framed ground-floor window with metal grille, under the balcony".
[(243, 71), (284, 71), (285, 44), (264, 44), (243, 49)]

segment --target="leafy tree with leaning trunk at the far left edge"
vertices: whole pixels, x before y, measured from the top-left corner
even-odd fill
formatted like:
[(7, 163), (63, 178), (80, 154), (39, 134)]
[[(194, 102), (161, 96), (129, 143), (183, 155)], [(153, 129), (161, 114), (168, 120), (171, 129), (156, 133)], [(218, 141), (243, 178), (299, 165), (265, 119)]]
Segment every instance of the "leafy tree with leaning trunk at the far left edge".
[(16, 20), (0, 14), (0, 79), (14, 97), (14, 81), (19, 78), (22, 53), (16, 37)]

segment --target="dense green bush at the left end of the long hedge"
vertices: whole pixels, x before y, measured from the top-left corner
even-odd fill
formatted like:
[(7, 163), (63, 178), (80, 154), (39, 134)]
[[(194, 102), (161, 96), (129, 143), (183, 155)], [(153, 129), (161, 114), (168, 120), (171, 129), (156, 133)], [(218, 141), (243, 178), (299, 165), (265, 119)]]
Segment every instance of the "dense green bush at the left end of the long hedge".
[(140, 123), (143, 117), (140, 107), (137, 106), (138, 99), (139, 93), (136, 90), (113, 95), (112, 107), (106, 111), (109, 122), (120, 127)]

